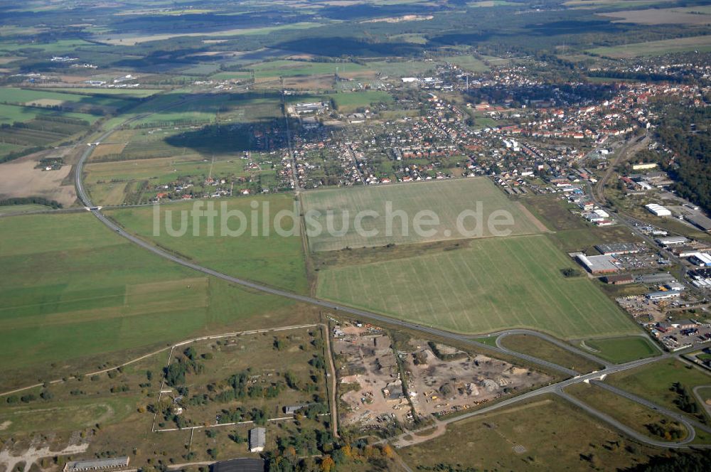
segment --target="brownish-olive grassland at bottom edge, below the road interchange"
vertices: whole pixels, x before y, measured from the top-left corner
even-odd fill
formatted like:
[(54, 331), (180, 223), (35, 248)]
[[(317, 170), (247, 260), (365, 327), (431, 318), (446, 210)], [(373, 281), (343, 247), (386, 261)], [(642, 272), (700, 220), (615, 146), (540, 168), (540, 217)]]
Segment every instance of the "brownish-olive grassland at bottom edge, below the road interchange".
[(654, 451), (629, 443), (563, 399), (537, 397), (449, 424), (447, 433), (399, 454), (412, 470), (614, 471), (646, 462)]

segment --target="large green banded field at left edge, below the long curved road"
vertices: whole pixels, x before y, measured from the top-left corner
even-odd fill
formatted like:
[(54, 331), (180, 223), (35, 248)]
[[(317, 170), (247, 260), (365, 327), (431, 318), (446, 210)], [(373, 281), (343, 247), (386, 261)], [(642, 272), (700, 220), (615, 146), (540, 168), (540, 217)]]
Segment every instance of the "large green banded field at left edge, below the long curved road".
[(0, 218), (0, 240), (0, 344), (13, 360), (3, 387), (27, 383), (16, 369), (165, 345), (290, 305), (141, 250), (88, 213)]

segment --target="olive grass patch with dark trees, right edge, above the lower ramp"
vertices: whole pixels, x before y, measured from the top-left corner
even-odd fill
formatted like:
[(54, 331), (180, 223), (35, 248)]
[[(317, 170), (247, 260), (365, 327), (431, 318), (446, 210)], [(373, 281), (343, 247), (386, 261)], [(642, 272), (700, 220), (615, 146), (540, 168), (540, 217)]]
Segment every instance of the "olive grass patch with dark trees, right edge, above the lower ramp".
[[(673, 384), (680, 382), (687, 390), (688, 395), (693, 396), (694, 387), (711, 386), (711, 375), (705, 370), (671, 358), (609, 375), (606, 382), (634, 393), (634, 395), (650, 399), (652, 402), (661, 404), (675, 412), (688, 414), (676, 403), (680, 395), (673, 390)], [(703, 413), (702, 405), (697, 404), (697, 409), (699, 417), (708, 424), (711, 418)]]

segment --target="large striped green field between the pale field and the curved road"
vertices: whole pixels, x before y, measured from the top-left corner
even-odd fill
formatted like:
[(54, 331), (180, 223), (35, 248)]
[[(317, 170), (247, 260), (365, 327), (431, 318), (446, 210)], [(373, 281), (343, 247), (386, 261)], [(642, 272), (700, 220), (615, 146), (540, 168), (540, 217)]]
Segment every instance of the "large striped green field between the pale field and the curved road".
[(562, 339), (638, 328), (545, 235), (491, 237), (410, 259), (322, 269), (323, 299), (459, 333), (532, 328)]

